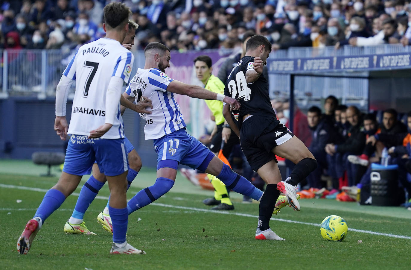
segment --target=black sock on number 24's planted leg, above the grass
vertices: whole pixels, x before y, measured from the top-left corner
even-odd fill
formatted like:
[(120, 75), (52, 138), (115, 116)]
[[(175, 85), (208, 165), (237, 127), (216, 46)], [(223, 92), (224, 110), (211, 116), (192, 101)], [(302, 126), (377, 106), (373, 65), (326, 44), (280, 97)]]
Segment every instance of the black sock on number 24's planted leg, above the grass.
[(275, 202), (278, 199), (280, 192), (277, 190), (277, 184), (267, 184), (266, 191), (260, 201), (260, 214), (258, 217), (258, 227), (260, 230), (267, 230), (270, 228), (272, 212), (274, 211)]

